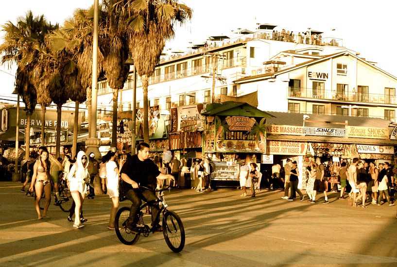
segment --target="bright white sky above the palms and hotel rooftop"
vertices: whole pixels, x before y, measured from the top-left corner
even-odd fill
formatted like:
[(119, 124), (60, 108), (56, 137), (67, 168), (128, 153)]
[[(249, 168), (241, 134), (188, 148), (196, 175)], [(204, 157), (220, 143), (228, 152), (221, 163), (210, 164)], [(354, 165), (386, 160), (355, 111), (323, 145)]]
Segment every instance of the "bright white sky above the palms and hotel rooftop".
[[(35, 16), (44, 14), (52, 24), (62, 24), (76, 8), (87, 8), (94, 0), (13, 0), (4, 1), (0, 10), (0, 25), (16, 22), (32, 10)], [(100, 0), (101, 2), (101, 0)], [(397, 34), (394, 34), (395, 10), (390, 0), (185, 0), (193, 10), (192, 19), (175, 26), (175, 38), (166, 49), (187, 50), (192, 44), (204, 42), (208, 36), (231, 35), (238, 28), (255, 30), (257, 23), (278, 25), (295, 33), (308, 28), (324, 32), (324, 37), (343, 39), (343, 46), (397, 76)], [(63, 3), (63, 4), (60, 4)], [(334, 29), (334, 31), (332, 31)], [(0, 32), (0, 43), (3, 33)], [(230, 37), (230, 36), (229, 36)], [(14, 99), (15, 67), (0, 66), (0, 102)]]

